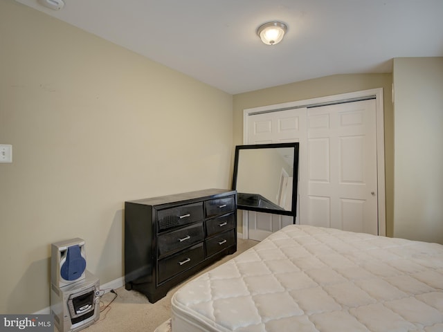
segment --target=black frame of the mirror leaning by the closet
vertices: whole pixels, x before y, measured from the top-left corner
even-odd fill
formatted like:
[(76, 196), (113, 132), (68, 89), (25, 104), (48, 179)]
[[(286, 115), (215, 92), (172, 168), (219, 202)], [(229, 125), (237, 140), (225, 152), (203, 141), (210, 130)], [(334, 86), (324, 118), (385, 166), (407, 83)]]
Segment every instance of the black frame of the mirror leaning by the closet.
[[(297, 184), (298, 184), (298, 142), (290, 142), (290, 143), (269, 143), (269, 144), (257, 144), (257, 145), (237, 145), (235, 147), (235, 158), (234, 158), (234, 173), (233, 173), (233, 190), (237, 190), (237, 175), (238, 175), (238, 164), (239, 164), (239, 156), (240, 151), (244, 149), (278, 149), (282, 147), (292, 147), (293, 148), (293, 184), (292, 184), (292, 204), (291, 211), (288, 210), (274, 210), (271, 208), (259, 208), (253, 205), (245, 205), (237, 203), (237, 209), (239, 210), (248, 210), (255, 212), (264, 212), (271, 214), (282, 214), (285, 216), (293, 216), (294, 222), (295, 217), (297, 215)], [(238, 192), (237, 197), (241, 194), (245, 194), (242, 192)], [(260, 194), (260, 193), (248, 193), (248, 194)]]

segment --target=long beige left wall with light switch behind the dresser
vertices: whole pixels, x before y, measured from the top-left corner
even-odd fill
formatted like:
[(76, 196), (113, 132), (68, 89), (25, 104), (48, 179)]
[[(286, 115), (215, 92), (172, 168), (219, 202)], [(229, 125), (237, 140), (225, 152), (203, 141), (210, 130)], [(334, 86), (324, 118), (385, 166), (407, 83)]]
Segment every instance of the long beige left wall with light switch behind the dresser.
[(51, 243), (123, 277), (124, 201), (230, 188), (232, 95), (0, 1), (0, 313), (49, 306)]

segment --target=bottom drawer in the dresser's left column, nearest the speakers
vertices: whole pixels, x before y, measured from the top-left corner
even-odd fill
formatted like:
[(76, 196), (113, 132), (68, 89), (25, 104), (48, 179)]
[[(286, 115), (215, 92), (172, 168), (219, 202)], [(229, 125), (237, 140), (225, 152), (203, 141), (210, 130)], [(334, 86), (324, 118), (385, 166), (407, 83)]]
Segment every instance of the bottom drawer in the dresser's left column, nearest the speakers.
[(159, 260), (159, 278), (158, 284), (174, 277), (192, 266), (196, 266), (204, 260), (203, 243), (180, 252), (177, 255)]

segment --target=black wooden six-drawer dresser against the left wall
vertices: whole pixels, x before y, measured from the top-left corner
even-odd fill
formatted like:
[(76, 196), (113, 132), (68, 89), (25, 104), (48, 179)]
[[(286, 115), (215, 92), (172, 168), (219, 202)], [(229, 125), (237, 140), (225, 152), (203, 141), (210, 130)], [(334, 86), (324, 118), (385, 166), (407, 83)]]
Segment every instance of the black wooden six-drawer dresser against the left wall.
[(154, 303), (237, 250), (237, 192), (208, 189), (125, 202), (125, 288)]

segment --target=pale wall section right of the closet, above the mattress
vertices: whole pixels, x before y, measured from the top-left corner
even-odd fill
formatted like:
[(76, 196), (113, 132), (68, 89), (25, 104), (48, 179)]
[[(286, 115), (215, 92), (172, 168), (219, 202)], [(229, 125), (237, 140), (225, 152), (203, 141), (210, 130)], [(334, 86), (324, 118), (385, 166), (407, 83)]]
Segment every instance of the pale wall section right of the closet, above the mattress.
[(399, 58), (395, 95), (395, 237), (443, 244), (443, 57)]

